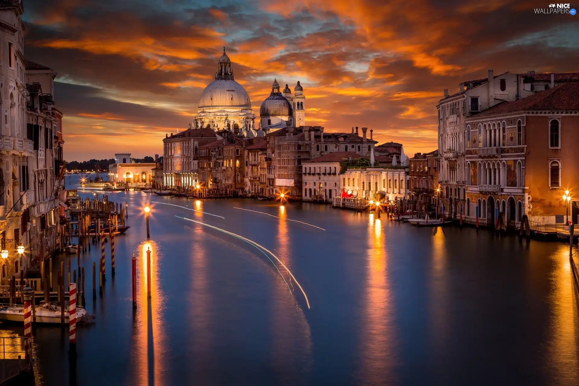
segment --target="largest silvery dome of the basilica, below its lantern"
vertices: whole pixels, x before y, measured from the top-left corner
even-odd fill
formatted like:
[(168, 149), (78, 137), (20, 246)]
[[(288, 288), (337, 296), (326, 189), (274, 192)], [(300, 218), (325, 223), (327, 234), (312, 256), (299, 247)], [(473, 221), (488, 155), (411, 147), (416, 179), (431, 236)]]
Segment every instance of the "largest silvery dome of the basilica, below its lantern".
[(251, 109), (247, 91), (232, 79), (216, 79), (209, 83), (201, 97), (197, 109), (210, 107), (242, 107)]

